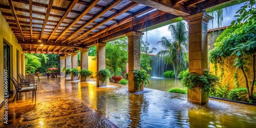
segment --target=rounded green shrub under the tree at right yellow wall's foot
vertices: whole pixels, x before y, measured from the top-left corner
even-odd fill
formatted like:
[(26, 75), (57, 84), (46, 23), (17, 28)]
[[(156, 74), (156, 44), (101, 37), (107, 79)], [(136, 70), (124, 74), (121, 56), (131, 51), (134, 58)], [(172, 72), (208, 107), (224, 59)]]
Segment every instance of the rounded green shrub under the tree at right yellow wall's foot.
[(228, 93), (228, 99), (237, 101), (247, 101), (247, 89), (237, 88), (234, 90), (230, 90), (230, 92)]

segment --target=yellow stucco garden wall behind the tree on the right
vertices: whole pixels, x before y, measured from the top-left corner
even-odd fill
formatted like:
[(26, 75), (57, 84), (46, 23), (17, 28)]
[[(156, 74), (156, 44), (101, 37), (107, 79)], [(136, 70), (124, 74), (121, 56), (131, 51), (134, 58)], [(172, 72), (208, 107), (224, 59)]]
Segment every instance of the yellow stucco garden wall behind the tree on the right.
[[(233, 63), (234, 63), (234, 56), (231, 56), (231, 57), (228, 57), (227, 59), (225, 59), (224, 61), (224, 75), (223, 75), (223, 80), (222, 80), (222, 86), (224, 86), (225, 84), (226, 85), (229, 85), (229, 88), (230, 89), (233, 89), (235, 87), (235, 84), (234, 84), (234, 72), (236, 71), (236, 67), (233, 66)], [(251, 82), (252, 81), (252, 76), (253, 76), (253, 63), (252, 63), (252, 57), (251, 56), (247, 56), (248, 60), (246, 60), (246, 63), (248, 64), (245, 68), (245, 72), (246, 72), (246, 75), (247, 75), (247, 78), (248, 78), (248, 83), (249, 83), (249, 86), (251, 85)], [(256, 65), (255, 65), (256, 67)], [(211, 72), (214, 72), (214, 65), (212, 63), (210, 63), (210, 71)], [(219, 68), (218, 66), (218, 70), (217, 70), (217, 74), (218, 76), (220, 76), (221, 74), (221, 69)], [(245, 78), (244, 78), (244, 75), (243, 75), (243, 72), (241, 69), (237, 69), (237, 81), (238, 81), (238, 87), (244, 87), (246, 88), (245, 86)], [(254, 87), (254, 91), (255, 91), (255, 87)]]

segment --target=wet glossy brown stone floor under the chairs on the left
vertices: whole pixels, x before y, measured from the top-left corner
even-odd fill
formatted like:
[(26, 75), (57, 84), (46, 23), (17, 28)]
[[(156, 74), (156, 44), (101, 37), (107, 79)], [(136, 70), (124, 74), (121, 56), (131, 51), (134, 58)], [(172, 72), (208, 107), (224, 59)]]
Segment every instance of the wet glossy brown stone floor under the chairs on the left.
[(2, 107), (0, 127), (117, 127), (72, 91), (63, 90), (66, 82), (73, 83), (65, 78), (40, 77), (36, 100), (31, 92), (22, 93), (14, 102), (10, 95), (8, 124), (4, 123)]

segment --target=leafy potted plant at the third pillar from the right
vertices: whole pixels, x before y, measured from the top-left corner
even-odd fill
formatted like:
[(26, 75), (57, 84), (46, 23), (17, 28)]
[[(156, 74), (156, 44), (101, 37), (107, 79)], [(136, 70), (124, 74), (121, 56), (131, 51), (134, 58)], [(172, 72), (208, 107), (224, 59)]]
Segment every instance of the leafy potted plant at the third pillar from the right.
[(108, 83), (108, 78), (111, 77), (110, 71), (108, 69), (102, 69), (97, 73), (96, 77), (97, 79), (99, 79), (99, 83), (97, 83), (97, 86), (106, 86), (106, 84)]

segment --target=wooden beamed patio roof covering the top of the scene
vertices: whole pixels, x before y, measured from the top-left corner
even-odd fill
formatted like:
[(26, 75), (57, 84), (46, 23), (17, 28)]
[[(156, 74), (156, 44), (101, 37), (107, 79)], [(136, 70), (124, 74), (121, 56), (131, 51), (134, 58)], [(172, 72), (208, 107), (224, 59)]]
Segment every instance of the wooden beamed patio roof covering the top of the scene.
[(0, 8), (25, 52), (67, 54), (226, 2), (231, 1), (2, 0)]

